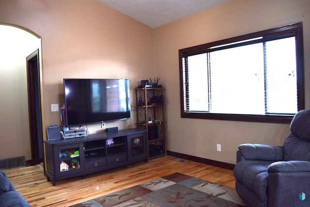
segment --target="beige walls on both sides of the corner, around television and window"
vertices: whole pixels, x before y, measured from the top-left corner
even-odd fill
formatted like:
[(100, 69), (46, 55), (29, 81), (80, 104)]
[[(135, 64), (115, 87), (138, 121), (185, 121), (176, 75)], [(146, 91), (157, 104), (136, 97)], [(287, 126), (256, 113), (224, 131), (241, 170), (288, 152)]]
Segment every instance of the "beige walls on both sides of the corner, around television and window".
[[(42, 38), (46, 126), (60, 123), (50, 104), (62, 105), (63, 78), (129, 78), (133, 99), (140, 80), (158, 76), (167, 92), (168, 150), (235, 163), (238, 144), (281, 145), (289, 133), (288, 124), (181, 119), (178, 50), (303, 21), (305, 57), (309, 57), (309, 0), (232, 0), (157, 29), (96, 0), (0, 0), (0, 5), (0, 23), (25, 27)], [(307, 108), (309, 61), (305, 59)], [(135, 127), (134, 119), (128, 123)], [(100, 125), (89, 129), (101, 130)], [(217, 143), (221, 152), (216, 151)]]

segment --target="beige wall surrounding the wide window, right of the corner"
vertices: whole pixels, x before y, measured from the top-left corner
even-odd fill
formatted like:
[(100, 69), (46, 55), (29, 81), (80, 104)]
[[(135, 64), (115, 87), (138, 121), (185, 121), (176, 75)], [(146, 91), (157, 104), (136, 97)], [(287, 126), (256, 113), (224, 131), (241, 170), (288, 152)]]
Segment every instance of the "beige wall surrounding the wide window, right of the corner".
[(156, 76), (167, 88), (169, 150), (234, 164), (241, 143), (283, 144), (288, 124), (180, 118), (178, 50), (302, 21), (306, 108), (310, 108), (309, 8), (309, 0), (232, 0), (155, 29)]

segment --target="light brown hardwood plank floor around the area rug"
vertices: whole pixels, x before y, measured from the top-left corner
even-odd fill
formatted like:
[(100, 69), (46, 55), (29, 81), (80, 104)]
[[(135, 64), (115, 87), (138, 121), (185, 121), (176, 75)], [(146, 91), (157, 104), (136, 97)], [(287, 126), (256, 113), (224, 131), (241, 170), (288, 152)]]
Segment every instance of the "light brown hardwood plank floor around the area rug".
[(85, 179), (78, 176), (58, 180), (56, 186), (47, 181), (40, 165), (5, 170), (31, 207), (68, 207), (176, 172), (231, 188), (235, 184), (232, 170), (171, 156), (86, 175)]

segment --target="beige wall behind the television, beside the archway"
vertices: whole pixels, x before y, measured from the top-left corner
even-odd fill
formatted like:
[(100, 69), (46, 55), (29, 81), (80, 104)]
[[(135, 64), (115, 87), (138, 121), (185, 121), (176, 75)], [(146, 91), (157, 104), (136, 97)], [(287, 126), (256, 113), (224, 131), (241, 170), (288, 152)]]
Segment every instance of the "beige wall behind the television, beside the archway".
[[(62, 106), (63, 78), (130, 79), (134, 99), (140, 80), (155, 76), (153, 29), (96, 0), (0, 0), (1, 23), (27, 28), (42, 39), (44, 132), (48, 125), (60, 124), (60, 113), (51, 112), (51, 104)], [(135, 127), (134, 115), (135, 111), (128, 120), (130, 127)], [(100, 126), (88, 129), (95, 133), (102, 130)], [(128, 127), (125, 121), (106, 126)], [(16, 125), (15, 130), (23, 134), (25, 129)], [(2, 131), (0, 139), (10, 132), (9, 128)], [(0, 151), (6, 145), (17, 151), (22, 139), (7, 139)], [(10, 157), (20, 156), (16, 151)], [(0, 159), (10, 158), (3, 156)]]

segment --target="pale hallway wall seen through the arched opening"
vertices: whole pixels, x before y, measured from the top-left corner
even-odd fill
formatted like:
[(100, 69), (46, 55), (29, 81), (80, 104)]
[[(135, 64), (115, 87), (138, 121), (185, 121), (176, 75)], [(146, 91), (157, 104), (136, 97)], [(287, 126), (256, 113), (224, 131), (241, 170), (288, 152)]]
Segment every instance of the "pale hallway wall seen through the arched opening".
[(31, 159), (25, 68), (26, 57), (40, 45), (31, 33), (0, 25), (0, 159)]

